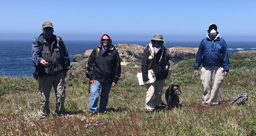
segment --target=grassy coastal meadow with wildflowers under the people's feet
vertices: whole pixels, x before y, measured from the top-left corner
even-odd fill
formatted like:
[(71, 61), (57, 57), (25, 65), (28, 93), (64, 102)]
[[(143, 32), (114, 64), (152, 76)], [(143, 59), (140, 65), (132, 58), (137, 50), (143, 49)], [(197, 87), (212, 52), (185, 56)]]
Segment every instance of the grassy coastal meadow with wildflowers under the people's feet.
[[(187, 60), (193, 62), (193, 60)], [(230, 61), (231, 62), (231, 61)], [(183, 62), (180, 62), (183, 64)], [(184, 63), (186, 65), (186, 63)], [(183, 65), (183, 66), (184, 66)], [(189, 67), (189, 66), (188, 66)], [(256, 68), (231, 68), (219, 91), (219, 104), (201, 105), (200, 72), (194, 77), (190, 69), (177, 65), (169, 85), (178, 83), (183, 107), (172, 111), (145, 113), (145, 86), (134, 75), (122, 75), (111, 89), (108, 113), (88, 115), (88, 79), (66, 79), (65, 108), (68, 116), (39, 120), (38, 81), (26, 77), (0, 77), (0, 136), (254, 136), (256, 135)], [(183, 74), (181, 74), (182, 71)], [(133, 74), (133, 73), (132, 73)], [(250, 93), (247, 105), (229, 105), (227, 99)], [(55, 111), (52, 90), (49, 102)], [(163, 102), (166, 103), (164, 95)], [(87, 120), (91, 125), (88, 125)], [(3, 123), (7, 123), (2, 125)], [(102, 125), (101, 125), (102, 123)]]

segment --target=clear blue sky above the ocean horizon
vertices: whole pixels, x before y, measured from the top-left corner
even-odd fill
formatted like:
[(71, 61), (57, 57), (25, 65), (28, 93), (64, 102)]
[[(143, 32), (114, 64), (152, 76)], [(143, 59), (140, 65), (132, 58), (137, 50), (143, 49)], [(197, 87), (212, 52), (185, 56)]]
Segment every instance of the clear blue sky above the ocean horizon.
[(256, 0), (1, 0), (0, 40), (30, 40), (44, 21), (66, 40), (200, 41), (209, 24), (226, 41), (256, 41)]

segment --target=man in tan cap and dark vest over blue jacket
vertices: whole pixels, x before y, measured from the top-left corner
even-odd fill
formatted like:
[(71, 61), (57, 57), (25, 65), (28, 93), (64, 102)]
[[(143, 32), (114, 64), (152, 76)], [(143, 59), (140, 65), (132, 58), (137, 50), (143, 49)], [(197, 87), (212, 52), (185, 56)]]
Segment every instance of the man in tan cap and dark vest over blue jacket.
[(57, 115), (65, 115), (65, 77), (70, 68), (70, 58), (61, 37), (53, 34), (53, 25), (44, 22), (42, 34), (32, 43), (32, 73), (39, 77), (40, 119), (49, 116), (49, 96), (52, 86), (56, 96)]

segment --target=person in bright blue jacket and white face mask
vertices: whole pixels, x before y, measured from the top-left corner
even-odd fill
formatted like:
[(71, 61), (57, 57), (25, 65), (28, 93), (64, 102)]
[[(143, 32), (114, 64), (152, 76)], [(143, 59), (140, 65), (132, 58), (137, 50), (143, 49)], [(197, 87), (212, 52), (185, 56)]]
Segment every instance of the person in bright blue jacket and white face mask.
[(207, 32), (207, 37), (199, 45), (194, 66), (194, 76), (196, 77), (198, 68), (203, 63), (201, 69), (201, 84), (204, 90), (203, 105), (209, 105), (210, 102), (218, 103), (220, 85), (230, 68), (227, 44), (220, 37), (217, 26), (210, 24)]

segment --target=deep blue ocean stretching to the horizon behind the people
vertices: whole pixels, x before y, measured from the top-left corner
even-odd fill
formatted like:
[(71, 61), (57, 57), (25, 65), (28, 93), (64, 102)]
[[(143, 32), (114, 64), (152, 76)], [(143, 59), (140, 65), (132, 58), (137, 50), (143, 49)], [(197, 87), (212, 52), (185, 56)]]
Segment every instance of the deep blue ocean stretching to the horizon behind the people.
[[(0, 40), (0, 75), (11, 77), (27, 76), (32, 77), (32, 41), (33, 40)], [(137, 44), (145, 46), (149, 41), (113, 41), (112, 45), (119, 43)], [(197, 48), (201, 41), (198, 42), (174, 42), (165, 41), (166, 48), (175, 46)], [(227, 42), (228, 54), (238, 51), (256, 50), (256, 42)], [(70, 61), (76, 54), (84, 54), (88, 49), (93, 49), (99, 45), (99, 41), (76, 41), (64, 40), (67, 51), (70, 55)], [(177, 62), (175, 62), (177, 63)]]

